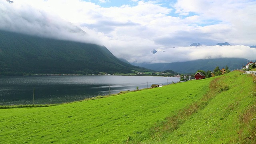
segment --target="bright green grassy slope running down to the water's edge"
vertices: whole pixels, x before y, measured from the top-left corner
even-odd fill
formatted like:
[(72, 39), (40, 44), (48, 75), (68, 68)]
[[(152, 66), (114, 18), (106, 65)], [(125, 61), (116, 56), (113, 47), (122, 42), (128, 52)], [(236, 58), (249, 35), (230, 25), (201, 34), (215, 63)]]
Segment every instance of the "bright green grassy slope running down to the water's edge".
[(255, 78), (240, 74), (70, 104), (0, 109), (0, 143), (254, 143)]

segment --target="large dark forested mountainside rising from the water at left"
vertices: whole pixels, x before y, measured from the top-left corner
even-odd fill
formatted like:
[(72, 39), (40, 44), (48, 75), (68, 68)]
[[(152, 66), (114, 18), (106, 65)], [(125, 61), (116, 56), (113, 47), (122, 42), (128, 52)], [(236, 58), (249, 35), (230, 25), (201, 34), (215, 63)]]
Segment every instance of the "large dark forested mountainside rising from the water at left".
[(0, 31), (0, 72), (98, 74), (145, 71), (105, 46)]

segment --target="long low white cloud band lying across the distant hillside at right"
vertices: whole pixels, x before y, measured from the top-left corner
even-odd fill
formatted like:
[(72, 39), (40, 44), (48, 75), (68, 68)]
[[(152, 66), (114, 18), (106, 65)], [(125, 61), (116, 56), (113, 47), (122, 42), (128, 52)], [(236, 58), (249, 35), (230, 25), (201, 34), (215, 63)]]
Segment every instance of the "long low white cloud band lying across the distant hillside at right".
[[(247, 58), (254, 60), (256, 48), (249, 46), (187, 46), (179, 48), (157, 49), (156, 54), (145, 54), (139, 57), (139, 62), (185, 62), (198, 59), (213, 58)], [(136, 62), (136, 61), (134, 61)]]

